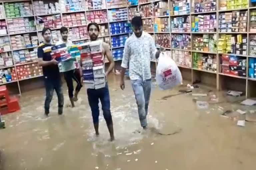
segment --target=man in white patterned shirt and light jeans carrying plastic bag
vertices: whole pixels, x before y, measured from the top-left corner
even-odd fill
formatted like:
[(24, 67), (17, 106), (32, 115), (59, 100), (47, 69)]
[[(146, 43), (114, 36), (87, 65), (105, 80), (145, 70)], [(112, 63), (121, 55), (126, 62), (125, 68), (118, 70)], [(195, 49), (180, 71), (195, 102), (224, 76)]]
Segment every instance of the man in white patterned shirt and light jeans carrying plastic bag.
[(164, 48), (156, 49), (154, 39), (142, 30), (142, 19), (132, 19), (133, 34), (125, 42), (120, 88), (124, 90), (124, 73), (129, 65), (129, 75), (137, 101), (141, 126), (147, 128), (148, 104), (151, 93), (151, 59), (158, 58)]

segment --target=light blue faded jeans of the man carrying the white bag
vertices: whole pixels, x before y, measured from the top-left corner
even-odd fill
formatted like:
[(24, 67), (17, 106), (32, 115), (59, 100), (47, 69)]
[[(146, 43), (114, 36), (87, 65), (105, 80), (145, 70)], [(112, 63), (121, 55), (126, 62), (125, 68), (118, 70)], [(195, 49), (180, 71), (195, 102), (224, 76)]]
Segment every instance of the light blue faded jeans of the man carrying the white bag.
[(148, 80), (132, 80), (132, 88), (137, 101), (140, 124), (142, 127), (146, 127), (148, 104), (151, 93), (151, 79)]

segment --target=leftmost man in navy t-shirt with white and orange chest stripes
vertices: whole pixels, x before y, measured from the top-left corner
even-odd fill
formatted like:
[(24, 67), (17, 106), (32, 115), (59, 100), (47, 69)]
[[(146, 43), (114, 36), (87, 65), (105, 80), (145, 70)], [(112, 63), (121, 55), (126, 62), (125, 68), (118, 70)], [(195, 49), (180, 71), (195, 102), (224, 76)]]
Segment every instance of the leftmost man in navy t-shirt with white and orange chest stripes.
[(61, 77), (58, 67), (58, 61), (51, 57), (51, 29), (44, 28), (42, 31), (44, 42), (38, 46), (38, 65), (43, 67), (45, 80), (46, 98), (44, 103), (45, 115), (49, 114), (50, 103), (52, 101), (53, 91), (58, 96), (58, 113), (63, 112), (64, 97), (62, 92)]

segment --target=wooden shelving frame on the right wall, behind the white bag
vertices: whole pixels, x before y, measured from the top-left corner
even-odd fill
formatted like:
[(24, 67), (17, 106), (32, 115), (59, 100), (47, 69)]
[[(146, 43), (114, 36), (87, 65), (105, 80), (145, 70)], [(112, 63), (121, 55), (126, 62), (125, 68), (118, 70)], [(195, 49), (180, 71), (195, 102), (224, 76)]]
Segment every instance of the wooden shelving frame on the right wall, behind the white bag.
[[(168, 0), (168, 4), (169, 4), (169, 9), (170, 9), (170, 2), (171, 0)], [(138, 10), (140, 10), (139, 6), (142, 5), (146, 5), (146, 4), (152, 4), (152, 11), (153, 11), (153, 3), (154, 2), (158, 2), (158, 1), (152, 1), (152, 2), (143, 2), (143, 3), (139, 3), (138, 6)], [(170, 49), (171, 51), (174, 50), (178, 50), (178, 51), (187, 51), (187, 52), (191, 52), (191, 67), (187, 67), (187, 66), (179, 66), (180, 70), (182, 72), (183, 78), (187, 78), (191, 81), (191, 83), (195, 82), (196, 80), (200, 80), (202, 83), (210, 85), (215, 87), (217, 90), (240, 90), (245, 92), (246, 97), (256, 97), (256, 92), (254, 92), (255, 90), (253, 90), (253, 86), (255, 87), (256, 85), (256, 78), (249, 78), (248, 77), (248, 59), (249, 57), (254, 57), (256, 58), (256, 56), (250, 56), (249, 55), (249, 35), (250, 34), (255, 34), (256, 32), (250, 32), (250, 11), (253, 9), (256, 9), (255, 4), (253, 6), (252, 3), (250, 3), (250, 1), (248, 0), (248, 8), (241, 8), (241, 9), (228, 9), (228, 10), (219, 10), (220, 9), (220, 0), (217, 0), (216, 2), (216, 10), (214, 11), (205, 11), (205, 12), (197, 12), (197, 13), (192, 13), (191, 11), (191, 2), (194, 1), (190, 1), (190, 13), (189, 14), (179, 14), (179, 15), (169, 15), (169, 21), (171, 23), (171, 19), (175, 18), (175, 17), (183, 17), (183, 16), (189, 16), (190, 17), (190, 26), (192, 26), (191, 23), (191, 16), (197, 16), (197, 15), (207, 15), (207, 14), (216, 14), (216, 20), (217, 20), (217, 25), (216, 25), (216, 31), (215, 32), (192, 32), (192, 30), (190, 32), (173, 32), (172, 30), (170, 30), (170, 36), (173, 34), (188, 34), (190, 35), (191, 38), (191, 49), (177, 49), (177, 48), (172, 48), (172, 46), (170, 48), (166, 48), (166, 49)], [(131, 6), (131, 7), (134, 7)], [(129, 8), (129, 6), (128, 6)], [(229, 33), (220, 33), (219, 32), (219, 14), (223, 13), (223, 12), (232, 12), (232, 11), (248, 11), (248, 15), (247, 15), (247, 31), (246, 32), (229, 32)], [(140, 12), (140, 11), (139, 11)], [(169, 13), (170, 14), (170, 13)], [(152, 16), (152, 17), (143, 17), (142, 19), (152, 19), (153, 23), (154, 23), (154, 19), (155, 18), (160, 18), (160, 17), (167, 17), (167, 16)], [(169, 25), (170, 26), (170, 25)], [(155, 37), (156, 34), (163, 34), (163, 33), (159, 33), (159, 32), (148, 32), (149, 34), (153, 34), (153, 36)], [(168, 33), (168, 32), (164, 32), (164, 33)], [(242, 55), (242, 54), (227, 54), (227, 53), (218, 53), (217, 49), (218, 46), (216, 48), (216, 52), (209, 52), (209, 51), (196, 51), (193, 50), (192, 47), (192, 41), (195, 35), (200, 35), (200, 34), (216, 34), (217, 36), (217, 40), (216, 43), (218, 45), (218, 39), (219, 36), (221, 34), (246, 34), (247, 35), (247, 55)], [(171, 38), (171, 37), (170, 37)], [(170, 41), (170, 45), (171, 45), (171, 41)], [(193, 53), (205, 53), (205, 54), (215, 54), (216, 55), (216, 59), (217, 59), (217, 71), (208, 71), (208, 70), (201, 70), (201, 69), (197, 69), (197, 68), (193, 68), (193, 57), (192, 54)], [(225, 55), (236, 55), (236, 56), (241, 56), (241, 57), (246, 57), (247, 59), (247, 65), (246, 65), (246, 77), (242, 77), (242, 76), (236, 76), (236, 75), (231, 75), (231, 74), (224, 74), (221, 73), (221, 68), (220, 68), (220, 56), (221, 54), (225, 54)], [(152, 62), (156, 62), (156, 61), (152, 61)], [(189, 76), (190, 74), (190, 76)], [(238, 79), (238, 80), (237, 80)], [(230, 80), (230, 82), (232, 82), (232, 85), (229, 85), (230, 83), (226, 82)], [(243, 84), (244, 83), (244, 84)]]

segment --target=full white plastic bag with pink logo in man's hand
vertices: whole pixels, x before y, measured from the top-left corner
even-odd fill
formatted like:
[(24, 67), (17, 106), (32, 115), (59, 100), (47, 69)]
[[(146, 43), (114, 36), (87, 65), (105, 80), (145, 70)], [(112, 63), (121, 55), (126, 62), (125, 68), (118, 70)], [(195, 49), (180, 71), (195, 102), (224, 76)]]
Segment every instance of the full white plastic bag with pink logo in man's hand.
[(166, 53), (161, 52), (156, 68), (156, 83), (160, 89), (172, 89), (182, 84), (182, 76), (176, 63)]

